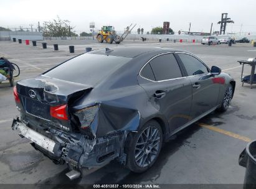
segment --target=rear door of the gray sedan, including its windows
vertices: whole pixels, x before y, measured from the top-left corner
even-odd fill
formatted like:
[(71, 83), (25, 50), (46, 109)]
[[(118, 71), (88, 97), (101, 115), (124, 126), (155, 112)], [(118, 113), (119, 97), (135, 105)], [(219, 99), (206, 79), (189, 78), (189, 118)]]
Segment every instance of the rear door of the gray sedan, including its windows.
[(164, 114), (169, 132), (176, 132), (190, 121), (192, 87), (183, 77), (173, 53), (152, 58), (140, 71), (139, 84), (146, 90), (151, 104)]

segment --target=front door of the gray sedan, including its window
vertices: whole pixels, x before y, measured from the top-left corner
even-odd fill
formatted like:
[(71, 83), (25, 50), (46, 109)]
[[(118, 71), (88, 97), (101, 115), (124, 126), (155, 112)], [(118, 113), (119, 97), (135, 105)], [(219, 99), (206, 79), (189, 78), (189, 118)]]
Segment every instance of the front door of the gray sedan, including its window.
[(192, 118), (197, 118), (217, 106), (220, 85), (217, 76), (198, 58), (187, 53), (178, 53), (192, 85)]

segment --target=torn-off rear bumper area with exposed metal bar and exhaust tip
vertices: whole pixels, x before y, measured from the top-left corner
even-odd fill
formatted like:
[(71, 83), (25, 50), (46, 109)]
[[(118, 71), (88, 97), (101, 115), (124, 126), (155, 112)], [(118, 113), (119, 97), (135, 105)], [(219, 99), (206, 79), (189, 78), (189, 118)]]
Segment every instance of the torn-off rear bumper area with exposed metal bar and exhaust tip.
[[(80, 133), (68, 133), (59, 129), (36, 132), (29, 127), (29, 123), (19, 118), (13, 120), (12, 129), (21, 137), (29, 139), (36, 150), (40, 150), (55, 164), (67, 163), (73, 170), (70, 173), (73, 175), (69, 178), (77, 178), (80, 173), (83, 176), (87, 172), (92, 172), (91, 170), (108, 164), (116, 157), (125, 164), (123, 149), (126, 131), (116, 131), (107, 136), (92, 139)], [(74, 175), (75, 177), (72, 177)]]

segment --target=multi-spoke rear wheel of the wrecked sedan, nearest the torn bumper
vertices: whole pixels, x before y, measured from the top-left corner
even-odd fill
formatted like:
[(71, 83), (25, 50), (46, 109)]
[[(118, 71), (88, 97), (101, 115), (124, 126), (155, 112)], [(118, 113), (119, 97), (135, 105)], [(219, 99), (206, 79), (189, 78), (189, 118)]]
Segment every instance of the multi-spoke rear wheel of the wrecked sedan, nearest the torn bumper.
[(127, 167), (137, 173), (145, 172), (158, 158), (163, 143), (163, 132), (158, 122), (151, 120), (130, 141)]

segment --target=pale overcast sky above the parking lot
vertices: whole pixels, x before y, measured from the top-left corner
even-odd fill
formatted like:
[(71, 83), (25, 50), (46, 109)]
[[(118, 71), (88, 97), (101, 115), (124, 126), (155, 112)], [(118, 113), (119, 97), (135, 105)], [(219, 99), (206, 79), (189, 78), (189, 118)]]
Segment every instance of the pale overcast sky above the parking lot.
[(171, 29), (189, 29), (192, 32), (219, 30), (221, 13), (227, 12), (234, 24), (227, 25), (227, 32), (246, 32), (256, 34), (256, 1), (252, 0), (176, 0), (176, 1), (80, 1), (80, 0), (0, 0), (0, 26), (13, 29), (36, 27), (44, 21), (51, 21), (57, 15), (67, 19), (75, 26), (75, 32), (88, 32), (89, 23), (95, 22), (95, 30), (102, 25), (113, 25), (115, 30), (123, 31), (131, 23), (150, 32), (153, 27), (170, 22)]

